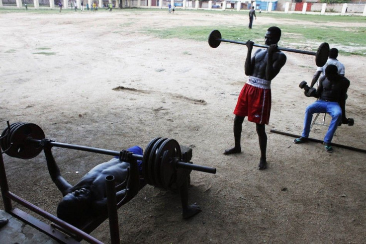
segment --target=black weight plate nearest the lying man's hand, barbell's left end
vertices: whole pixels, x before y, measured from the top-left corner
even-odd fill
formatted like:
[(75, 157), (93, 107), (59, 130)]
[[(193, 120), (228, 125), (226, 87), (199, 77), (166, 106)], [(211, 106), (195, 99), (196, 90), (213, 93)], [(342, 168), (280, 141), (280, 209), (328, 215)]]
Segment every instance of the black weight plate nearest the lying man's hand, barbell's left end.
[(11, 155), (17, 155), (20, 159), (32, 159), (39, 155), (43, 148), (38, 144), (27, 142), (27, 138), (42, 140), (45, 138), (44, 132), (36, 124), (24, 123), (19, 125), (11, 134), (13, 147), (9, 150)]

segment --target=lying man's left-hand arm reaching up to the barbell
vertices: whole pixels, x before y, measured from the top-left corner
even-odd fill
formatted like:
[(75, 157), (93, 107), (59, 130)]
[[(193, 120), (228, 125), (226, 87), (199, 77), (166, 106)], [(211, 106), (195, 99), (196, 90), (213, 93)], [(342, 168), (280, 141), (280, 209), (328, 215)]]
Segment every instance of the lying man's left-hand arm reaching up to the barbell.
[(56, 184), (57, 188), (62, 192), (65, 196), (68, 193), (68, 190), (72, 187), (64, 177), (61, 176), (61, 172), (57, 163), (52, 155), (52, 146), (51, 141), (48, 139), (42, 139), (40, 146), (43, 147), (43, 152), (46, 156), (47, 168), (50, 173), (52, 181)]

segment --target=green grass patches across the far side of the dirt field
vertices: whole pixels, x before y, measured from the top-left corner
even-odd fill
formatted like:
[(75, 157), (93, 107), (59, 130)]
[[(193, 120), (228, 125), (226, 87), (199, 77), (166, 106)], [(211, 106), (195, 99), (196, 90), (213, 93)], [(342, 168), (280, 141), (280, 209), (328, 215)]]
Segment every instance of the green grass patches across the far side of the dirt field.
[[(0, 9), (0, 14), (25, 12), (25, 9)], [(124, 8), (113, 9), (113, 11), (120, 12), (134, 12), (141, 11), (164, 11), (166, 9), (146, 9), (146, 8)], [(197, 10), (179, 10), (179, 11), (197, 11)], [(204, 10), (199, 10), (202, 14), (208, 13)], [(63, 9), (59, 13), (58, 9), (40, 9), (27, 10), (32, 14), (69, 14), (74, 10)], [(210, 14), (236, 14), (247, 15), (247, 11), (210, 11)], [(244, 16), (243, 16), (244, 17)], [(307, 14), (284, 14), (284, 13), (262, 13), (261, 17), (281, 18), (283, 25), (279, 26), (282, 30), (282, 38), (280, 45), (284, 47), (303, 48), (309, 43), (319, 44), (321, 42), (328, 42), (333, 46), (338, 46), (340, 53), (343, 55), (366, 55), (365, 36), (366, 27), (362, 26), (366, 22), (365, 16), (339, 16), (339, 15), (307, 15)], [(309, 25), (299, 26), (296, 20), (308, 21)], [(329, 23), (332, 23), (331, 25)], [(337, 24), (338, 23), (338, 24)], [(361, 23), (361, 26), (357, 26)], [(133, 24), (133, 23), (132, 23)], [(122, 27), (123, 28), (123, 27)], [(263, 33), (266, 32), (268, 26), (257, 25), (251, 31), (247, 31), (243, 23), (238, 21), (237, 25), (225, 25), (223, 22), (220, 25), (200, 26), (197, 22), (194, 26), (182, 26), (180, 28), (166, 28), (166, 29), (143, 29), (145, 33), (152, 34), (159, 38), (180, 38), (190, 39), (196, 41), (207, 41), (207, 33), (213, 29), (219, 29), (222, 37), (231, 40), (253, 40), (255, 42), (263, 41)], [(312, 51), (316, 51), (317, 45), (310, 45)], [(342, 48), (344, 47), (344, 48)]]

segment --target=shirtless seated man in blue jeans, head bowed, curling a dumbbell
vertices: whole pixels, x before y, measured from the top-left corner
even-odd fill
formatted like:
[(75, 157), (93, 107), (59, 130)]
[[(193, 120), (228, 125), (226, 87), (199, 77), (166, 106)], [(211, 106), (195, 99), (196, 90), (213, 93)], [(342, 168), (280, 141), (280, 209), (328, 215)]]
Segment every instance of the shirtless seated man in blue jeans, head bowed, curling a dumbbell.
[(310, 104), (305, 110), (304, 128), (300, 138), (293, 140), (299, 144), (306, 142), (310, 133), (310, 124), (314, 113), (328, 113), (332, 116), (328, 131), (325, 134), (323, 145), (328, 153), (333, 152), (331, 142), (333, 135), (340, 122), (347, 123), (345, 103), (346, 93), (350, 86), (350, 81), (338, 74), (337, 66), (329, 65), (325, 69), (325, 79), (319, 81), (314, 97), (319, 98)]

